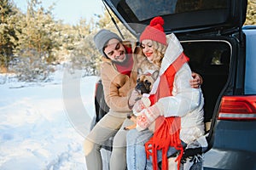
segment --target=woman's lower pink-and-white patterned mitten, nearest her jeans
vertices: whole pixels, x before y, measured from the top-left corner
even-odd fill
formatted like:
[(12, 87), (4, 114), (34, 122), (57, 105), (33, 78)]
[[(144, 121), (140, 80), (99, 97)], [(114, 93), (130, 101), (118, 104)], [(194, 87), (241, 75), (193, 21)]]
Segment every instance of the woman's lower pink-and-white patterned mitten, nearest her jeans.
[(149, 127), (154, 120), (160, 116), (160, 110), (157, 105), (152, 105), (139, 113), (137, 116), (137, 130), (142, 131)]

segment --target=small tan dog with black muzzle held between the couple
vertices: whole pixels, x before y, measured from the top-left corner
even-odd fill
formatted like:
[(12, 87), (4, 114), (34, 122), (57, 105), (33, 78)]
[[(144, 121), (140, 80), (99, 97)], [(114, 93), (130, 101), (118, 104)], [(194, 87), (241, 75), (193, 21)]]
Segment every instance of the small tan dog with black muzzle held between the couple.
[[(143, 94), (149, 94), (154, 81), (157, 79), (158, 75), (159, 75), (159, 71), (155, 70), (155, 71), (145, 71), (143, 73), (142, 69), (138, 69), (138, 78), (137, 78), (137, 86), (135, 87), (135, 89), (139, 92), (139, 94), (141, 94), (141, 97), (138, 99), (141, 99)], [(132, 124), (131, 126), (128, 127), (124, 127), (125, 130), (130, 130), (136, 127), (136, 122), (137, 122), (137, 117), (135, 115), (127, 115), (128, 119), (131, 119), (132, 122), (134, 122), (134, 124)]]

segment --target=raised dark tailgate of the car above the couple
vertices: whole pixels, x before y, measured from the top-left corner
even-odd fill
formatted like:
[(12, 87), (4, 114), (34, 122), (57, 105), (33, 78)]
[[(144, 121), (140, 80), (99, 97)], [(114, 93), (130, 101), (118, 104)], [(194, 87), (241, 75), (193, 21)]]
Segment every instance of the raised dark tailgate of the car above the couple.
[[(103, 0), (121, 22), (138, 35), (155, 16), (168, 32), (230, 29), (246, 20), (247, 0)], [(143, 25), (143, 26), (139, 26)]]

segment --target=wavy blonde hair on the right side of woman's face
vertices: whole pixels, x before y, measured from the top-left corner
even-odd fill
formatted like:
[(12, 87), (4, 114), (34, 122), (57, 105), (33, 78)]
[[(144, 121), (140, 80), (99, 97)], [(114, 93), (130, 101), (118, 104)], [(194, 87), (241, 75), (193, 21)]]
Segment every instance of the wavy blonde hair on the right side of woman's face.
[(158, 65), (160, 67), (161, 63), (162, 63), (162, 59), (164, 57), (164, 55), (166, 54), (166, 45), (160, 43), (160, 42), (155, 42), (152, 41), (153, 44), (153, 48), (154, 48), (154, 59), (153, 59), (153, 63), (154, 65)]

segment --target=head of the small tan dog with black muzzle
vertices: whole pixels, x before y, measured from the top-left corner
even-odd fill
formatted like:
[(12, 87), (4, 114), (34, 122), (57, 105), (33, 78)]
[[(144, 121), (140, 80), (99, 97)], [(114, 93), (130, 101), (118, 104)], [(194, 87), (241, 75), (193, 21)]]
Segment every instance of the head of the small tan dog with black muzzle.
[(140, 94), (149, 94), (154, 81), (159, 75), (159, 71), (146, 71), (143, 73), (141, 69), (138, 69), (138, 75), (137, 86), (135, 89)]

